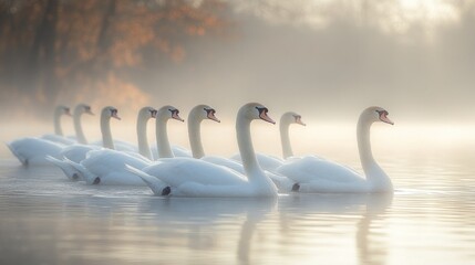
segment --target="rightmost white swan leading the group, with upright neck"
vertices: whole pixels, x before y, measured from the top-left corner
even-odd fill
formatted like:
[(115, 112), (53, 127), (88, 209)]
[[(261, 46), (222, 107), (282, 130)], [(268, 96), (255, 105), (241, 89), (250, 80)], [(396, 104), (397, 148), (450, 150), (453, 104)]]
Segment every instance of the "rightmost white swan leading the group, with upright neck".
[(394, 125), (381, 107), (364, 109), (358, 120), (357, 137), (364, 176), (333, 161), (308, 156), (277, 169), (298, 183), (300, 192), (392, 192), (391, 179), (375, 162), (371, 152), (370, 128), (375, 121)]

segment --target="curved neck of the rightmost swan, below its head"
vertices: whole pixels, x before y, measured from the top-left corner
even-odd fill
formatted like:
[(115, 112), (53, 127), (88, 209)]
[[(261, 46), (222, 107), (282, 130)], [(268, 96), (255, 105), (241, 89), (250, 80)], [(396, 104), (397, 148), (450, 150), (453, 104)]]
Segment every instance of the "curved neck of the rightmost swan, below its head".
[(372, 184), (374, 191), (383, 191), (392, 189), (391, 179), (376, 163), (371, 151), (371, 124), (360, 117), (358, 121), (357, 137), (358, 150), (360, 152), (361, 166), (363, 168), (366, 180)]

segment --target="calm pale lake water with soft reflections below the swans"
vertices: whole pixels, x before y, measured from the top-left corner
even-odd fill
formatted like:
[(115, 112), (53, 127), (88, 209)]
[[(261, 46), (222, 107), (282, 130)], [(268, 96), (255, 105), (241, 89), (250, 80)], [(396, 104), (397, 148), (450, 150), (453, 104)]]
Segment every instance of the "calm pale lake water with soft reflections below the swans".
[(376, 156), (392, 195), (277, 200), (164, 199), (3, 157), (0, 264), (475, 264), (468, 149)]

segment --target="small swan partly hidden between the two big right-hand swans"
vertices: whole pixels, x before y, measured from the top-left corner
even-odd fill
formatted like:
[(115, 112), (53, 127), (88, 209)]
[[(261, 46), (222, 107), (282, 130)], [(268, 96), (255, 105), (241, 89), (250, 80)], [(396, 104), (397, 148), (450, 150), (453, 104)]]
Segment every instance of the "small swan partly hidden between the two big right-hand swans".
[[(286, 159), (293, 157), (292, 147), (290, 146), (289, 127), (292, 124), (306, 126), (301, 118), (302, 116), (295, 112), (287, 112), (282, 114), (280, 117), (279, 129), (283, 159), (275, 156), (256, 153), (257, 160), (259, 161), (259, 165), (262, 167), (262, 169), (273, 172), (278, 167), (283, 165)], [(238, 162), (241, 161), (239, 155), (233, 156), (231, 159)]]

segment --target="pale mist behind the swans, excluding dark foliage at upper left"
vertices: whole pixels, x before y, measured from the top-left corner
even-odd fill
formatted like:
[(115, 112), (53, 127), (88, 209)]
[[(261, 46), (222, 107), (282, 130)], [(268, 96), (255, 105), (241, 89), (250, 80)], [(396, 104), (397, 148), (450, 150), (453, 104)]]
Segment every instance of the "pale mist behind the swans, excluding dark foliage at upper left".
[[(101, 75), (101, 85), (74, 78), (71, 86), (49, 92), (48, 86), (1, 83), (1, 118), (10, 128), (2, 139), (18, 136), (13, 131), (30, 120), (41, 126), (20, 136), (50, 132), (54, 106), (81, 102), (96, 114), (103, 106), (116, 106), (125, 117), (117, 137), (127, 139), (134, 139), (135, 115), (144, 105), (173, 105), (186, 118), (195, 105), (208, 104), (223, 123), (204, 125), (204, 135), (213, 139), (204, 141), (210, 152), (221, 153), (236, 150), (229, 144), (234, 119), (248, 102), (266, 105), (276, 120), (287, 110), (302, 115), (309, 126), (292, 132), (302, 140), (293, 144), (299, 153), (324, 144), (331, 152), (332, 140), (351, 142), (347, 146), (355, 150), (355, 120), (372, 105), (388, 109), (394, 128), (400, 128), (378, 127), (385, 138), (423, 134), (416, 139), (425, 139), (432, 134), (435, 142), (469, 137), (465, 129), (472, 126), (475, 96), (475, 1), (179, 2), (197, 10), (217, 2), (219, 8), (209, 13), (223, 22), (206, 33), (174, 39), (179, 49), (166, 50), (168, 57), (144, 56), (114, 76)], [(2, 76), (9, 71), (3, 64)], [(100, 137), (97, 118), (84, 119), (91, 137)], [(71, 128), (68, 123), (64, 127)], [(256, 131), (257, 147), (280, 152), (277, 127), (270, 131), (257, 125)], [(187, 146), (186, 125), (171, 125), (171, 134), (176, 144)]]

